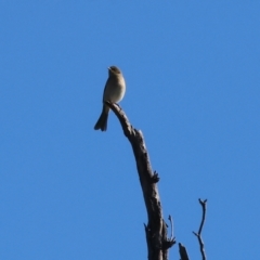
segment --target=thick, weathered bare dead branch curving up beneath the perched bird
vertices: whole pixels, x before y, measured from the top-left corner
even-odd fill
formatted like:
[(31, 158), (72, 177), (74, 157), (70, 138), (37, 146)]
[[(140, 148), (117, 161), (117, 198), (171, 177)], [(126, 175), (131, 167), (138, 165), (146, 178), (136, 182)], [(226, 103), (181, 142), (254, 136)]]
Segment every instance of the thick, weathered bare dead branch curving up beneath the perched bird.
[(148, 222), (145, 224), (148, 260), (167, 260), (168, 250), (176, 240), (172, 234), (170, 238), (167, 237), (167, 225), (164, 221), (162, 208), (156, 184), (159, 181), (158, 173), (152, 170), (142, 132), (130, 125), (126, 114), (117, 104), (107, 102), (107, 105), (118, 117), (123, 133), (131, 143), (136, 161), (148, 218)]

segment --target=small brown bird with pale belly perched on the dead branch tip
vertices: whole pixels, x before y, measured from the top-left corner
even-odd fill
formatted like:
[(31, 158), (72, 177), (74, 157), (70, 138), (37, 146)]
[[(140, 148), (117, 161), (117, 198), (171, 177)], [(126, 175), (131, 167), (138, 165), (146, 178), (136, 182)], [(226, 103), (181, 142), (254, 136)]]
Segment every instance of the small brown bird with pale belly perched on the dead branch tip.
[(103, 109), (94, 126), (94, 130), (101, 129), (101, 131), (106, 131), (109, 107), (105, 104), (105, 101), (117, 103), (123, 98), (125, 92), (126, 82), (122, 73), (116, 66), (108, 67), (108, 79), (103, 93)]

